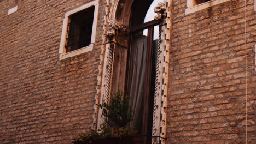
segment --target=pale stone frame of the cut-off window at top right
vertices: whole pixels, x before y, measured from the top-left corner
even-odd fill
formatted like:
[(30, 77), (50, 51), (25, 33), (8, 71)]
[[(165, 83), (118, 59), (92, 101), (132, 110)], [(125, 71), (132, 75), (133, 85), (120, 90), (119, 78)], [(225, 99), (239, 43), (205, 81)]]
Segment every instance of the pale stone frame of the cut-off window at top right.
[(224, 3), (230, 0), (211, 0), (205, 3), (196, 4), (196, 0), (187, 0), (187, 9), (185, 10), (185, 15), (195, 13), (196, 11), (200, 11), (202, 9), (206, 9), (212, 7), (213, 5), (217, 5), (220, 3)]

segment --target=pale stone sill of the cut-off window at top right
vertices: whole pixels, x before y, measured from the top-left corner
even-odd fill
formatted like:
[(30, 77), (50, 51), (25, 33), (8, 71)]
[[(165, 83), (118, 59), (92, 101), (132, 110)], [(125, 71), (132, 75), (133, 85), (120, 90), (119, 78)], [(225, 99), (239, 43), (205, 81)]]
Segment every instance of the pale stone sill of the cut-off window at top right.
[(205, 3), (198, 4), (198, 5), (194, 5), (194, 6), (189, 7), (185, 10), (185, 15), (195, 13), (196, 11), (206, 9), (206, 8), (212, 7), (213, 5), (224, 3), (224, 2), (227, 2), (227, 1), (230, 1), (230, 0), (212, 0), (212, 1), (208, 1), (208, 2), (205, 2)]

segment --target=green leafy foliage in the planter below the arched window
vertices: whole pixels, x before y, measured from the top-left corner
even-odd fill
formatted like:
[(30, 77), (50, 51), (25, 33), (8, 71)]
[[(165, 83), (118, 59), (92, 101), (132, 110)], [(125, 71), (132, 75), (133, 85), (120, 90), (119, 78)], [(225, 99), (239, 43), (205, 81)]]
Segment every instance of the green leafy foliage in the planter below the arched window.
[(93, 140), (104, 139), (107, 137), (121, 137), (126, 135), (134, 135), (137, 131), (131, 130), (127, 125), (132, 120), (132, 109), (129, 105), (130, 97), (123, 97), (120, 91), (114, 93), (110, 104), (103, 101), (100, 108), (105, 122), (101, 128), (96, 131), (92, 130), (88, 134), (80, 134), (77, 139), (74, 139), (74, 144), (89, 144)]

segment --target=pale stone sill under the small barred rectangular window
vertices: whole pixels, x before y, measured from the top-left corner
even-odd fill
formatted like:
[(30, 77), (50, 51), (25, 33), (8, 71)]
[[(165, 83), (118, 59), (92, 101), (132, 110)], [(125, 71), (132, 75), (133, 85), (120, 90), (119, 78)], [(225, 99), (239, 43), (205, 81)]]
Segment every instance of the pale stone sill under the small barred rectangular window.
[(88, 52), (88, 51), (92, 51), (93, 47), (94, 47), (94, 44), (90, 44), (89, 46), (83, 47), (78, 50), (74, 50), (74, 51), (67, 52), (67, 53), (60, 53), (60, 61), (63, 59), (69, 58), (69, 57), (78, 56), (78, 55)]

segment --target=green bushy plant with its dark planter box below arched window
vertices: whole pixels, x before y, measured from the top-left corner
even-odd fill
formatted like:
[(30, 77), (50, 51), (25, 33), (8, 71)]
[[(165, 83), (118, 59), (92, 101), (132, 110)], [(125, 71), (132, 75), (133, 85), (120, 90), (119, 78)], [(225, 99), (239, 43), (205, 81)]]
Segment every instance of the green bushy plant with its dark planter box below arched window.
[[(123, 98), (123, 99), (122, 99)], [(142, 143), (142, 136), (136, 135), (137, 131), (127, 127), (132, 120), (132, 109), (129, 105), (130, 97), (122, 97), (120, 91), (114, 93), (110, 104), (103, 101), (100, 104), (104, 124), (96, 131), (89, 134), (80, 134), (74, 144), (137, 144)]]

